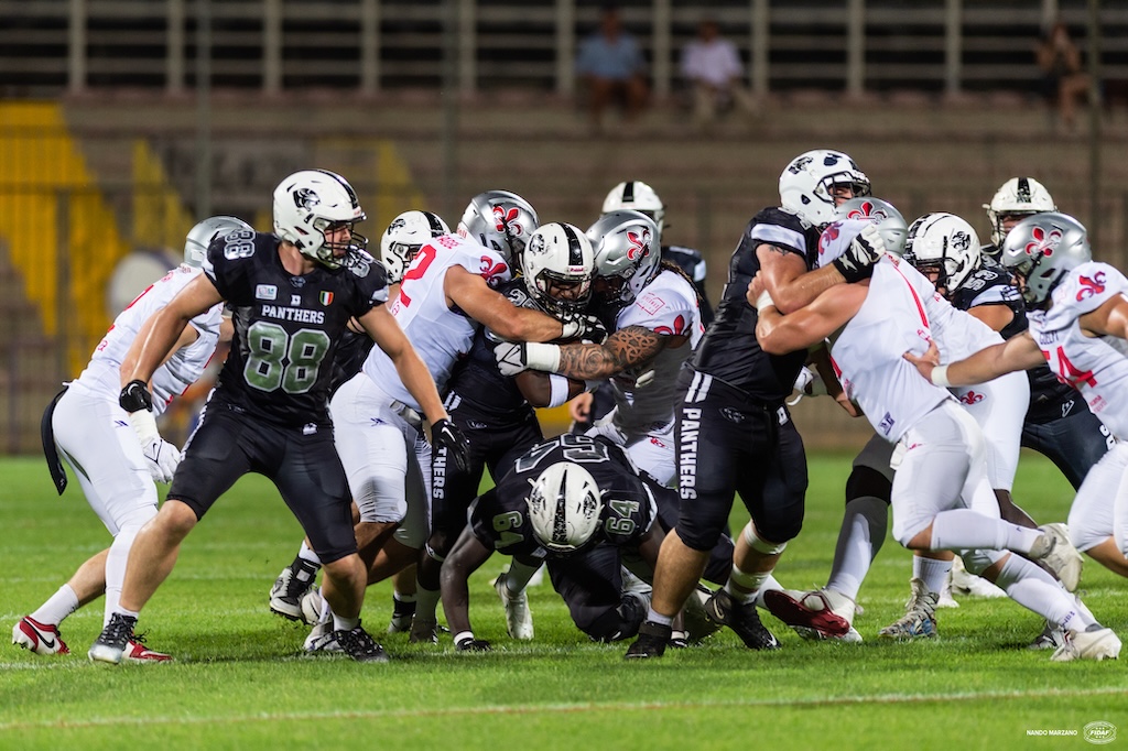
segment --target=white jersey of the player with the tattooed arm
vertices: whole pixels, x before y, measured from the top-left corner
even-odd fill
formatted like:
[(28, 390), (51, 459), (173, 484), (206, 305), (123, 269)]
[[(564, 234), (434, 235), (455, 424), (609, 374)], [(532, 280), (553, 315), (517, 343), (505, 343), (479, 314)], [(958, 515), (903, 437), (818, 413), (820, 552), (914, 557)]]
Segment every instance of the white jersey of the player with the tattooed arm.
[[(627, 435), (649, 433), (656, 424), (673, 419), (678, 371), (694, 347), (705, 335), (697, 291), (681, 274), (663, 268), (658, 276), (619, 311), (616, 330), (627, 326), (642, 326), (669, 336), (689, 337), (680, 347), (664, 347), (654, 361), (642, 369), (625, 371), (613, 379), (615, 383), (615, 426)], [(654, 378), (644, 387), (635, 388), (635, 379), (644, 371), (654, 371)]]

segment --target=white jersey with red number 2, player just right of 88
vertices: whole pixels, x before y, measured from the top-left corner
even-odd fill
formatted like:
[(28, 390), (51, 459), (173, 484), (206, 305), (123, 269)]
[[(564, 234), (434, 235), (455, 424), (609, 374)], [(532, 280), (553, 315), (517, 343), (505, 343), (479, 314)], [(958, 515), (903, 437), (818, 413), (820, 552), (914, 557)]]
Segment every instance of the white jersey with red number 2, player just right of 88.
[[(443, 282), (451, 266), (482, 276), (490, 286), (512, 276), (509, 263), (496, 250), (457, 235), (443, 235), (425, 244), (407, 267), (399, 294), (391, 303), (391, 315), (423, 359), (440, 392), (455, 363), (469, 352), (474, 334), (481, 327), (469, 316), (447, 307)], [(363, 370), (391, 398), (420, 409), (384, 350), (372, 347)]]

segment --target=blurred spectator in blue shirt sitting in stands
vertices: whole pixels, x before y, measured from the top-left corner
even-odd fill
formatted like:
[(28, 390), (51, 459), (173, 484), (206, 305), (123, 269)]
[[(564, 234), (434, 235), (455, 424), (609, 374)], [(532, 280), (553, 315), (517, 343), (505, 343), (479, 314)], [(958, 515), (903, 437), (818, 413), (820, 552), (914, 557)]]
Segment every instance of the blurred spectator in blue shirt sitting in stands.
[(591, 130), (602, 127), (603, 111), (613, 101), (623, 106), (628, 127), (638, 120), (649, 94), (643, 73), (646, 61), (635, 38), (623, 30), (618, 8), (603, 8), (599, 30), (580, 45), (576, 73), (588, 87), (588, 113)]

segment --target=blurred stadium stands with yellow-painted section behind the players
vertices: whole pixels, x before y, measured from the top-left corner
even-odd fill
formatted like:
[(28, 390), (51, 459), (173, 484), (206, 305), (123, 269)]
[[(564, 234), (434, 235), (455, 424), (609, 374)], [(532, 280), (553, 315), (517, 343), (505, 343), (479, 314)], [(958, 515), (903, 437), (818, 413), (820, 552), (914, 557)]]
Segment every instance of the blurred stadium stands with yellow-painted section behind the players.
[[(0, 0), (0, 452), (38, 419), (113, 315), (230, 213), (268, 231), (289, 173), (333, 169), (379, 237), (409, 207), (451, 224), (508, 188), (587, 227), (623, 179), (650, 183), (669, 242), (702, 249), (714, 300), (748, 219), (796, 153), (851, 153), (905, 217), (981, 207), (1038, 178), (1125, 267), (1128, 3), (744, 0), (617, 3), (651, 104), (594, 134), (573, 73), (603, 3), (576, 0)], [(703, 16), (734, 42), (758, 108), (707, 134), (678, 73)], [(1034, 47), (1061, 18), (1091, 74), (1067, 129)], [(804, 400), (818, 447), (866, 428)]]

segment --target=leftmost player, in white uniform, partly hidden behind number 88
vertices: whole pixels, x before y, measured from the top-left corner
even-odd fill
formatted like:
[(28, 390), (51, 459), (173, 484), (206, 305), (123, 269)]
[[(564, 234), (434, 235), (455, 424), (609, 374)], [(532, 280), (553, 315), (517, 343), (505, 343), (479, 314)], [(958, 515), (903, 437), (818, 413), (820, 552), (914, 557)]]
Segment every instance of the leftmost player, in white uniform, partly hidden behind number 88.
[[(177, 448), (156, 430), (134, 432), (140, 423), (129, 419), (117, 404), (121, 373), (136, 360), (151, 329), (151, 316), (201, 275), (211, 241), (235, 230), (250, 227), (235, 217), (212, 217), (193, 227), (185, 239), (184, 263), (146, 288), (114, 319), (82, 373), (47, 406), (43, 449), (59, 493), (67, 487), (62, 454), (114, 542), (79, 566), (69, 582), (16, 624), (14, 644), (35, 654), (68, 654), (59, 626), (70, 613), (103, 592), (104, 624), (117, 608), (130, 547), (138, 530), (157, 515), (153, 481), (170, 481), (180, 458)], [(200, 378), (219, 343), (230, 339), (231, 323), (223, 318), (222, 306), (194, 316), (173, 345), (171, 355), (152, 374), (153, 413), (164, 413)], [(149, 650), (134, 635), (126, 640), (124, 659), (159, 662), (169, 656)]]

